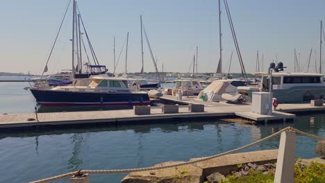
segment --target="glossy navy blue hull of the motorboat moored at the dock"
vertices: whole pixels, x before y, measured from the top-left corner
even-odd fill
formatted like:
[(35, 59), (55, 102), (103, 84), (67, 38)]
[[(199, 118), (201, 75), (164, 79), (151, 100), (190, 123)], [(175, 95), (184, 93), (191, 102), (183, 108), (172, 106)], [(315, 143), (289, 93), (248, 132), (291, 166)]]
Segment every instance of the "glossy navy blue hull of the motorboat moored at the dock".
[(149, 105), (148, 94), (69, 92), (50, 89), (30, 89), (40, 105)]

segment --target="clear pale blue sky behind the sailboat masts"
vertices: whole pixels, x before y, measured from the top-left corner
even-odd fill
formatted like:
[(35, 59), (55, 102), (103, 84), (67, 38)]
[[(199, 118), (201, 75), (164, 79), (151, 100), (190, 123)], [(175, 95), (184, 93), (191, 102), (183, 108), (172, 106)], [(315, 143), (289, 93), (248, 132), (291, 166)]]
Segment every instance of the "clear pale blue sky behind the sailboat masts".
[[(0, 0), (0, 71), (40, 73), (68, 0)], [(276, 59), (289, 71), (294, 67), (294, 48), (301, 67), (310, 49), (319, 62), (319, 21), (325, 20), (325, 1), (313, 0), (228, 0), (247, 72), (255, 71), (256, 51), (264, 54), (265, 69)], [(219, 60), (217, 0), (79, 0), (85, 26), (99, 62), (113, 69), (113, 36), (117, 55), (130, 32), (128, 71), (140, 71), (140, 15), (143, 15), (153, 54), (165, 71), (188, 72), (199, 46), (199, 72), (215, 72)], [(49, 62), (49, 72), (71, 68), (72, 10)], [(222, 4), (224, 67), (235, 46)], [(145, 42), (144, 42), (145, 43)], [(325, 46), (324, 46), (325, 47)], [(323, 51), (324, 52), (324, 51)], [(153, 71), (147, 44), (144, 44), (144, 71)], [(324, 57), (325, 55), (323, 55)], [(298, 55), (299, 57), (299, 55)], [(124, 53), (117, 71), (124, 71)], [(261, 60), (261, 58), (260, 58)], [(313, 51), (311, 71), (315, 70)], [(226, 69), (226, 68), (224, 68)], [(240, 71), (233, 57), (231, 71)]]

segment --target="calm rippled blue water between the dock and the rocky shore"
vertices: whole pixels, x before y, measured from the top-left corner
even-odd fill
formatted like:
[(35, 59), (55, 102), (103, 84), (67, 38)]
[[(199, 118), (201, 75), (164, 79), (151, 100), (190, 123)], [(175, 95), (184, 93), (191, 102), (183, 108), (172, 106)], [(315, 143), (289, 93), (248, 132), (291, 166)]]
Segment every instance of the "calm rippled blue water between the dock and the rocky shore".
[[(325, 115), (324, 115), (325, 116)], [(246, 125), (223, 121), (130, 125), (0, 134), (1, 182), (28, 182), (78, 169), (119, 169), (187, 161), (238, 148), (288, 125), (325, 137), (324, 116), (294, 123)], [(278, 148), (279, 137), (247, 150)], [(297, 137), (297, 157), (317, 157), (316, 141)], [(92, 182), (119, 182), (125, 174), (92, 175)], [(63, 180), (61, 182), (68, 182)]]

